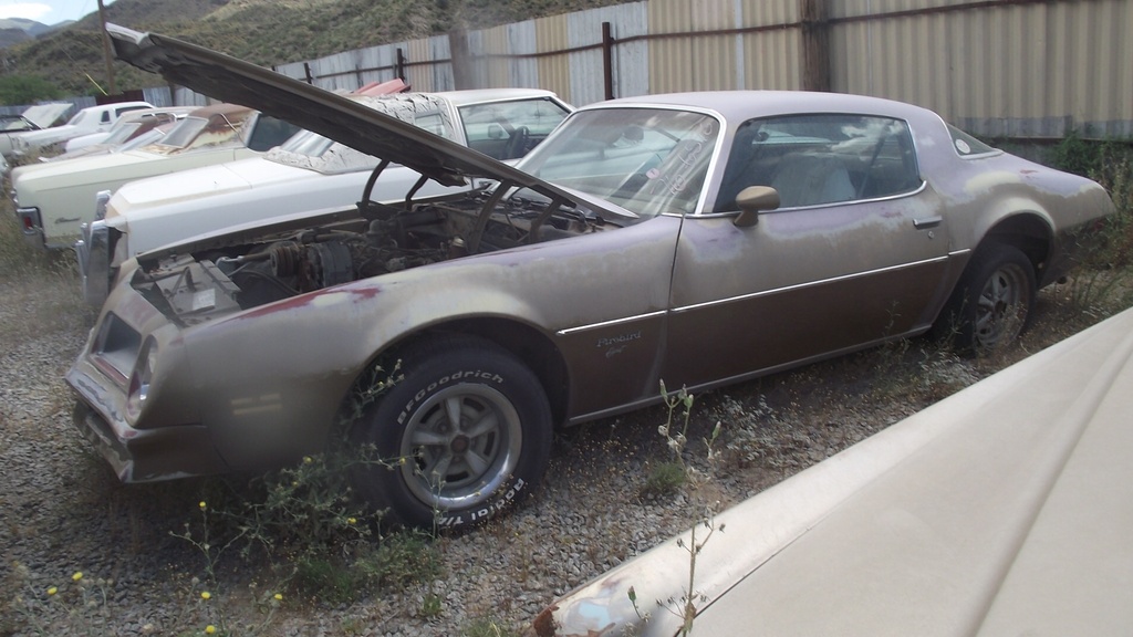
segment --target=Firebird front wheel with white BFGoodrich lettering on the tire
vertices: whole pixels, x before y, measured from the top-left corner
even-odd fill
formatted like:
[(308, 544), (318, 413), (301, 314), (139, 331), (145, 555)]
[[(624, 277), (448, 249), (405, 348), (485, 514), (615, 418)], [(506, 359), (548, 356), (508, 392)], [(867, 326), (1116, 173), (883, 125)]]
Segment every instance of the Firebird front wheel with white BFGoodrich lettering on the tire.
[(353, 426), (392, 469), (355, 487), (406, 525), (486, 521), (528, 495), (551, 456), (551, 408), (538, 379), (480, 339), (441, 338), (401, 353), (403, 379)]

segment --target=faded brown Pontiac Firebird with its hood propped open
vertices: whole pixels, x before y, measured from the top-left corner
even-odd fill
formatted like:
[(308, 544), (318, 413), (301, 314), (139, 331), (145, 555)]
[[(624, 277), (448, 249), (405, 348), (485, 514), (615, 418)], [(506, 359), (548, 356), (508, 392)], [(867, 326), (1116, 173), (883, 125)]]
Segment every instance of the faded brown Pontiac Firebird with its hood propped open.
[[(272, 467), (344, 439), (404, 459), (353, 476), (373, 506), (477, 523), (539, 481), (556, 426), (657, 402), (662, 380), (700, 391), (934, 325), (963, 349), (1002, 345), (1113, 210), (1092, 181), (886, 100), (614, 100), (512, 168), (112, 31), (139, 68), (387, 160), (350, 210), (125, 262), (67, 380), (79, 428), (126, 482)], [(390, 162), (421, 184), (492, 186), (370, 202)], [(343, 425), (398, 362), (403, 377)]]

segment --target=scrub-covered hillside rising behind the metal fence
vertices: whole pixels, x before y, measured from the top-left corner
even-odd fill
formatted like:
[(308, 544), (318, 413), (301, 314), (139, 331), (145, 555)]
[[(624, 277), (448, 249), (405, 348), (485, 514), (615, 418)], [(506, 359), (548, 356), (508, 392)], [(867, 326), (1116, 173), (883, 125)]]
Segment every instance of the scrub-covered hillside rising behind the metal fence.
[[(174, 35), (272, 66), (444, 33), (617, 3), (616, 0), (117, 0), (107, 20)], [(65, 93), (105, 83), (97, 14), (5, 51), (7, 73), (39, 75)], [(120, 91), (160, 80), (114, 63)]]

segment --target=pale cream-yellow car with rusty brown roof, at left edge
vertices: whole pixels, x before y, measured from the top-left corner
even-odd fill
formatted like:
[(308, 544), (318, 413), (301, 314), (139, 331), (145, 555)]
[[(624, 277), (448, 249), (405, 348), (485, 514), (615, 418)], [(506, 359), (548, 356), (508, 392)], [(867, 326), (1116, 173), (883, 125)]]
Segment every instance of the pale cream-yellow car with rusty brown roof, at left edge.
[(25, 237), (45, 247), (70, 247), (94, 221), (94, 196), (122, 184), (263, 153), (298, 131), (236, 104), (202, 107), (160, 141), (137, 150), (11, 171), (11, 196)]

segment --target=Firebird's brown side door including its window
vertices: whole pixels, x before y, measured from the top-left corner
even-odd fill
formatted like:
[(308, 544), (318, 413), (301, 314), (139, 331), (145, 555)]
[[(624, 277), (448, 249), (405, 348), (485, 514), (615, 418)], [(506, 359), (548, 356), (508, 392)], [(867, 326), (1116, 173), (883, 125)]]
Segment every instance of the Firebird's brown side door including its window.
[[(752, 120), (735, 135), (715, 213), (688, 215), (673, 267), (663, 379), (739, 380), (921, 330), (944, 294), (948, 243), (905, 122)], [(780, 192), (740, 227), (735, 195)]]

